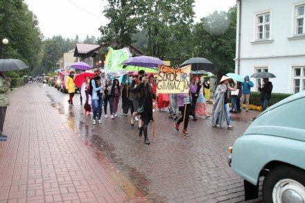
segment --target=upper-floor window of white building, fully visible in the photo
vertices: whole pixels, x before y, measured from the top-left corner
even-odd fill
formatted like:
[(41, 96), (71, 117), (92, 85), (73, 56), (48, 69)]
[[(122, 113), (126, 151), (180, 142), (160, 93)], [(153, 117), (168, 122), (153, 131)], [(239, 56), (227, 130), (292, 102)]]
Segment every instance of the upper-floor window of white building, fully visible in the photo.
[(256, 40), (270, 38), (270, 12), (256, 15)]

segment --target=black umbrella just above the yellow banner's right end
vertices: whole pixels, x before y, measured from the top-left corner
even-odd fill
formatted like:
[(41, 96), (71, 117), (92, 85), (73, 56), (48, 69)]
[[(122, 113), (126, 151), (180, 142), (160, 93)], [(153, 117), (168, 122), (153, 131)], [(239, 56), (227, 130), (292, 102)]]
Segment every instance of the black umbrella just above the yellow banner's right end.
[(215, 64), (207, 60), (206, 58), (190, 58), (183, 62), (180, 67), (184, 67), (188, 64), (191, 64), (192, 71), (204, 70), (207, 72), (215, 72)]

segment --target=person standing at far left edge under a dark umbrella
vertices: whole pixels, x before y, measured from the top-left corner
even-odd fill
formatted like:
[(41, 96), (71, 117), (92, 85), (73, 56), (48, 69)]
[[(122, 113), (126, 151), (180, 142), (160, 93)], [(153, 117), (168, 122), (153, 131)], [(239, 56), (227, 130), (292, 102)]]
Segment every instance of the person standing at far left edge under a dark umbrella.
[(6, 119), (6, 109), (10, 105), (10, 81), (11, 78), (5, 77), (5, 72), (0, 72), (0, 141), (6, 141), (8, 136), (3, 134), (3, 125)]

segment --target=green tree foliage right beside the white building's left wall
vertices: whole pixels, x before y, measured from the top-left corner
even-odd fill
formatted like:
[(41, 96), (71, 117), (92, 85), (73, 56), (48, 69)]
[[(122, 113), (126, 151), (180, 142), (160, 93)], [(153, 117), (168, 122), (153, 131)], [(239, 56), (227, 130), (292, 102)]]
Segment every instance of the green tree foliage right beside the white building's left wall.
[(203, 57), (216, 64), (222, 76), (234, 72), (236, 49), (236, 6), (229, 12), (214, 12), (193, 26), (193, 57)]

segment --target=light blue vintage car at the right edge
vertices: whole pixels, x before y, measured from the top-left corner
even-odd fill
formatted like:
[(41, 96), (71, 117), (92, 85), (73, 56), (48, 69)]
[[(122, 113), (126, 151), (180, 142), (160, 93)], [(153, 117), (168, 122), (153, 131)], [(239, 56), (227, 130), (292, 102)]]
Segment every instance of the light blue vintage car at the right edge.
[(272, 105), (229, 148), (229, 166), (243, 177), (245, 200), (305, 202), (305, 91)]

